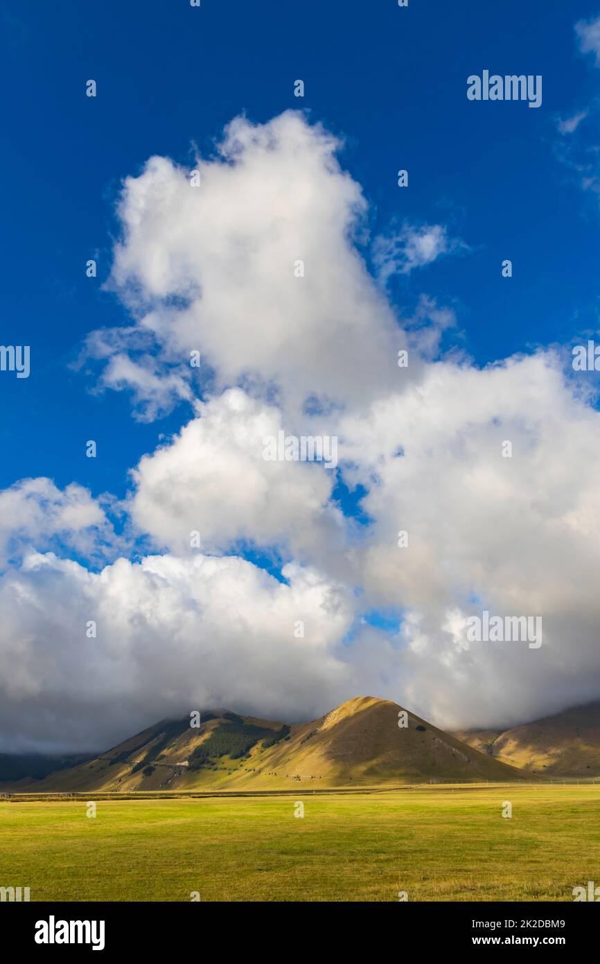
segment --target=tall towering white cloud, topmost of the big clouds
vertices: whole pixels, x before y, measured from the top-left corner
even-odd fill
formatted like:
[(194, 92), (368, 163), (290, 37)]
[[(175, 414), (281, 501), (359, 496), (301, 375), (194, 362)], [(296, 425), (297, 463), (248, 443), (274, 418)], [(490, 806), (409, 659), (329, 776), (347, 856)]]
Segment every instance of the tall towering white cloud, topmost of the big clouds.
[(220, 384), (262, 384), (295, 409), (307, 396), (362, 402), (394, 384), (403, 335), (353, 244), (366, 203), (338, 147), (296, 112), (238, 118), (219, 155), (197, 159), (199, 186), (162, 157), (125, 180), (111, 284), (139, 318), (136, 335), (160, 343), (165, 373), (190, 375), (198, 350)]

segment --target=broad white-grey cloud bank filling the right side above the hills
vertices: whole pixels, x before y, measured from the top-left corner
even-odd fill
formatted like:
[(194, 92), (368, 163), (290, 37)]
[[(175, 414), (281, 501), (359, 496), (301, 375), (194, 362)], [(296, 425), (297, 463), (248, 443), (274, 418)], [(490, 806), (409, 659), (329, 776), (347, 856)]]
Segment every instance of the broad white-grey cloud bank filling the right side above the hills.
[[(491, 725), (594, 698), (600, 414), (564, 382), (559, 358), (432, 364), (344, 432), (375, 520), (362, 584), (406, 615), (405, 701), (445, 725)], [(541, 647), (468, 644), (460, 617), (483, 608), (541, 616)]]

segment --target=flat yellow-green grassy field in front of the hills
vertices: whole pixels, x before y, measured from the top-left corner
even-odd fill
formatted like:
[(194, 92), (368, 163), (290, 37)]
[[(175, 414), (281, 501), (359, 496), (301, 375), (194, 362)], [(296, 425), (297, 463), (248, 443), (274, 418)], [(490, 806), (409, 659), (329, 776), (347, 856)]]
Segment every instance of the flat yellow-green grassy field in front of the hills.
[(0, 801), (0, 886), (32, 900), (572, 900), (600, 883), (599, 815), (593, 785), (110, 800), (95, 818), (84, 801)]

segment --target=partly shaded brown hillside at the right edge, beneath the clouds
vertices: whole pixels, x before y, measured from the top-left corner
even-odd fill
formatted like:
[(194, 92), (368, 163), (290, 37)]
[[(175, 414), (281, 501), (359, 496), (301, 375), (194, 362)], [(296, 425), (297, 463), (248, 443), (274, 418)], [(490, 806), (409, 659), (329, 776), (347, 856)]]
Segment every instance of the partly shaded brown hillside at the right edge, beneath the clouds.
[(600, 701), (509, 730), (463, 731), (455, 736), (495, 760), (535, 775), (600, 774)]

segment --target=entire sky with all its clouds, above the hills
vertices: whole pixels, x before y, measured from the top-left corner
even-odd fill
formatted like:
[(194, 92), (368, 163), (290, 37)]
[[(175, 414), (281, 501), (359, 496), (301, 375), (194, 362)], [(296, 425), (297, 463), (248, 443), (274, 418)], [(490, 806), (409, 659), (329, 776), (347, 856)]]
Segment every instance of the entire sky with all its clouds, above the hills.
[(597, 698), (600, 0), (0, 4), (0, 749)]

